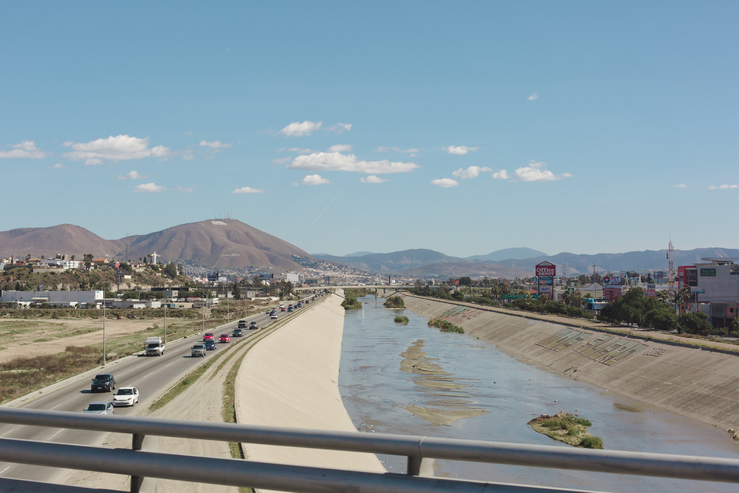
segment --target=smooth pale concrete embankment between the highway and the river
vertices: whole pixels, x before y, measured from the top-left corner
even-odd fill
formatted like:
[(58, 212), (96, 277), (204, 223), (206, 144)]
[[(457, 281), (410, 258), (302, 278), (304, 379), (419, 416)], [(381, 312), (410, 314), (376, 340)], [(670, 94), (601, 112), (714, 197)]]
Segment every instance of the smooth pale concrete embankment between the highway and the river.
[[(356, 431), (338, 392), (341, 301), (330, 295), (253, 347), (236, 376), (236, 421)], [(242, 448), (249, 460), (385, 472), (373, 454), (253, 443)]]

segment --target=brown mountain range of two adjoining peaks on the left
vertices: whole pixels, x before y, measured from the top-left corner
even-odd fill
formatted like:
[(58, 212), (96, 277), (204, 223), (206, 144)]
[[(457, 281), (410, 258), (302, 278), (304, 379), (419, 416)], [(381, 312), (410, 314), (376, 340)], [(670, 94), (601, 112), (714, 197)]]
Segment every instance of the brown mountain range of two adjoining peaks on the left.
[(237, 220), (205, 220), (155, 233), (103, 239), (71, 224), (0, 231), (0, 257), (83, 254), (120, 257), (129, 243), (129, 258), (152, 254), (162, 259), (191, 260), (213, 267), (275, 267), (302, 270), (291, 255), (310, 256), (295, 245)]

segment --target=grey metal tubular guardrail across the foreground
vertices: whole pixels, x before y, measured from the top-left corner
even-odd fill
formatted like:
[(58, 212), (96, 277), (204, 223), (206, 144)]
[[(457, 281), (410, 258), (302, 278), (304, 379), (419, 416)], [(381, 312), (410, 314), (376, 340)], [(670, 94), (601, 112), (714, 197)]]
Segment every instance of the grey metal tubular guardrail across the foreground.
[[(0, 423), (132, 434), (131, 450), (0, 438), (1, 461), (131, 475), (132, 492), (156, 491), (156, 478), (298, 493), (334, 493), (348, 490), (358, 493), (380, 491), (480, 493), (488, 488), (495, 492), (517, 493), (583, 491), (432, 477), (434, 459), (739, 483), (739, 460), (729, 458), (89, 415), (38, 409), (1, 408)], [(260, 463), (252, 460), (163, 454), (158, 453), (158, 437), (163, 436), (405, 455), (408, 458), (408, 471), (406, 475), (381, 474)], [(0, 480), (0, 488), (3, 485)], [(54, 491), (39, 488), (41, 486), (35, 486), (33, 490), (18, 491)]]

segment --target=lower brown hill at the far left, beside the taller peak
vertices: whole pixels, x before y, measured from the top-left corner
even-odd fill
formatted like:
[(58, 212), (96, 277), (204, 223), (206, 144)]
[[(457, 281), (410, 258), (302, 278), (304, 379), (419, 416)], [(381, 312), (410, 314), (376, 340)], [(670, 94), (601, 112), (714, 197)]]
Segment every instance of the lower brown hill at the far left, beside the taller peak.
[(18, 228), (0, 231), (0, 257), (54, 256), (55, 254), (113, 256), (123, 244), (103, 239), (97, 234), (73, 224), (48, 228)]

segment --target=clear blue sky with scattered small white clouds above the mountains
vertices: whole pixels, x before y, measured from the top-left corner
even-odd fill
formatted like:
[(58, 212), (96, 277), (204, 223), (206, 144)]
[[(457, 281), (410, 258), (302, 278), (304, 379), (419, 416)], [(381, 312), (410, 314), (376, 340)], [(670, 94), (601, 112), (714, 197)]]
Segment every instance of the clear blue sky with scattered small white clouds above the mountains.
[(0, 229), (228, 211), (339, 255), (733, 248), (738, 11), (4, 4)]

